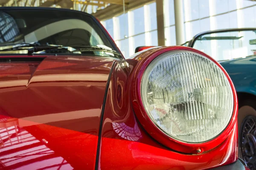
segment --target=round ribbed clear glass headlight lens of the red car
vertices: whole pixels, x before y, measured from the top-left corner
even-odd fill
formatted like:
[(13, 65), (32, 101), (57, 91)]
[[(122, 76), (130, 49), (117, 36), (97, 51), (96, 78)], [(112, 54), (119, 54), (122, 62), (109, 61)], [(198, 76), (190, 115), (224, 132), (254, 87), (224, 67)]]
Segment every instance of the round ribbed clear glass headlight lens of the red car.
[(169, 51), (154, 59), (143, 74), (141, 96), (154, 124), (181, 142), (214, 139), (233, 113), (233, 93), (224, 72), (190, 51)]

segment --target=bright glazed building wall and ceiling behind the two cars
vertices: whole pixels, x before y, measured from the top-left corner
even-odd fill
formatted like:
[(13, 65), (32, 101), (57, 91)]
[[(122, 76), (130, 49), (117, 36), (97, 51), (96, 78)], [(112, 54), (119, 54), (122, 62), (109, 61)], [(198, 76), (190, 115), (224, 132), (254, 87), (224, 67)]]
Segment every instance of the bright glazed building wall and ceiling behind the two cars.
[[(180, 1), (183, 37), (178, 42), (191, 40), (202, 31), (256, 27), (254, 0)], [(0, 0), (0, 6), (70, 8), (93, 14), (125, 57), (134, 54), (138, 46), (180, 45), (175, 33), (174, 0)]]

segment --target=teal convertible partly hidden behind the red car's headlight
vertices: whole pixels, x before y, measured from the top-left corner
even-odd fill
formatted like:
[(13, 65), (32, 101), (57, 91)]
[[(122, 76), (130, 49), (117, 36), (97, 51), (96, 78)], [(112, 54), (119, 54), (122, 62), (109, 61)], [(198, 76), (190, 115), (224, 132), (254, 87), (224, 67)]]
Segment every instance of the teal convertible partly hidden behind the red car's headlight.
[(207, 31), (183, 45), (209, 54), (230, 75), (239, 101), (239, 158), (256, 170), (256, 28)]

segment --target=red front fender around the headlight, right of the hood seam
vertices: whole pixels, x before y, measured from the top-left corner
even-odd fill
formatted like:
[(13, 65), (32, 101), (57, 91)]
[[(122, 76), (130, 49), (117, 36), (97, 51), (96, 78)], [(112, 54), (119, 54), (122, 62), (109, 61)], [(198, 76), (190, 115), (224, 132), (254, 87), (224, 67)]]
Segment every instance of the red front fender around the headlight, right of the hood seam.
[[(155, 48), (137, 55), (134, 59), (115, 63), (103, 117), (99, 158), (99, 167), (102, 170), (118, 170), (120, 167), (126, 170), (195, 170), (219, 167), (238, 159), (236, 103), (234, 117), (231, 121), (232, 129), (229, 125), (218, 139), (205, 145), (202, 144), (207, 151), (201, 154), (178, 153), (175, 150), (182, 150), (182, 147), (193, 148), (192, 145), (182, 146), (181, 143), (178, 143), (176, 147), (171, 146), (172, 150), (170, 150), (152, 139), (144, 130), (145, 121), (138, 117), (143, 115), (143, 112), (133, 105), (134, 89), (131, 93), (131, 87), (137, 85), (136, 82), (134, 83), (134, 79), (140, 79), (138, 75), (143, 74), (143, 71), (139, 71), (139, 68), (149, 63), (148, 57), (152, 56), (152, 60), (157, 54), (173, 49), (181, 49), (181, 47)], [(182, 49), (184, 48), (182, 47)], [(195, 51), (191, 48), (186, 49)], [(142, 122), (136, 119), (134, 113)], [(146, 130), (149, 129), (154, 130), (154, 128)], [(160, 137), (163, 138), (163, 136)], [(160, 141), (160, 139), (157, 140)]]

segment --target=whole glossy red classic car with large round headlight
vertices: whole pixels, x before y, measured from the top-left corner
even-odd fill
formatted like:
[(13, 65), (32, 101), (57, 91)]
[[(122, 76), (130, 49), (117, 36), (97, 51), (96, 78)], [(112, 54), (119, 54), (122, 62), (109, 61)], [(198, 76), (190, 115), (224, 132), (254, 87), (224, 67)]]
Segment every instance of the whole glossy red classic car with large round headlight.
[(201, 51), (124, 59), (90, 14), (0, 8), (0, 170), (245, 170), (237, 109)]

